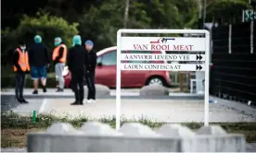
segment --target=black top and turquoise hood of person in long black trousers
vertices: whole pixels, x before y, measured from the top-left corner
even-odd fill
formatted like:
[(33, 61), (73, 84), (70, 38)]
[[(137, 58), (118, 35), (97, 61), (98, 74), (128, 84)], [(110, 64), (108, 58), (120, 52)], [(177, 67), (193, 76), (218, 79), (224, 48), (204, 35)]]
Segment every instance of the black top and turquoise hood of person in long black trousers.
[(87, 53), (81, 46), (82, 40), (79, 35), (73, 37), (73, 47), (68, 51), (67, 65), (71, 72), (85, 71), (87, 65)]

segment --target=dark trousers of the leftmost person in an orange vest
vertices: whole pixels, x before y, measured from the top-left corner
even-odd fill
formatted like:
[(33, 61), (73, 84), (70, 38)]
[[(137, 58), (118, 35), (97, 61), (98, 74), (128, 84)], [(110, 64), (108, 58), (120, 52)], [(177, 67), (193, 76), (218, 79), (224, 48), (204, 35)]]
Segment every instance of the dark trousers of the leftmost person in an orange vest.
[(24, 73), (15, 74), (15, 97), (16, 99), (23, 99), (23, 88), (25, 85), (25, 76)]

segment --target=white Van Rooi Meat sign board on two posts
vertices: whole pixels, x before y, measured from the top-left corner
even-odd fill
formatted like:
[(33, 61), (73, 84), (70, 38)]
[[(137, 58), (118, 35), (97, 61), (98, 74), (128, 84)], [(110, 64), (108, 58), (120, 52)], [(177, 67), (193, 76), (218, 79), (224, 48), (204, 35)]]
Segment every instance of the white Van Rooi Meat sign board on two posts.
[[(188, 33), (188, 34), (204, 34), (205, 38), (122, 37), (122, 33), (161, 33), (161, 34)], [(122, 53), (122, 51), (126, 51), (126, 52)], [(129, 51), (140, 51), (140, 52), (127, 53)], [(156, 51), (161, 51), (161, 52), (156, 53)], [(165, 51), (172, 51), (173, 53), (169, 54), (169, 53), (165, 53)], [(117, 79), (116, 128), (119, 129), (121, 125), (121, 79), (122, 79), (121, 71), (122, 70), (204, 71), (205, 72), (204, 124), (208, 125), (209, 124), (209, 57), (210, 57), (209, 51), (210, 51), (210, 33), (209, 31), (204, 29), (120, 29), (118, 30), (117, 32), (117, 77), (116, 77)], [(200, 52), (200, 54), (198, 54), (198, 52)], [(205, 53), (205, 54), (201, 54), (201, 53)], [(130, 61), (136, 61), (136, 64), (131, 64)], [(147, 61), (147, 63), (145, 63), (145, 61)], [(158, 63), (155, 63), (157, 61)], [(183, 62), (183, 64), (166, 64), (166, 61), (171, 61), (171, 62), (174, 61), (175, 63)], [(189, 62), (194, 62), (194, 63), (191, 64)]]

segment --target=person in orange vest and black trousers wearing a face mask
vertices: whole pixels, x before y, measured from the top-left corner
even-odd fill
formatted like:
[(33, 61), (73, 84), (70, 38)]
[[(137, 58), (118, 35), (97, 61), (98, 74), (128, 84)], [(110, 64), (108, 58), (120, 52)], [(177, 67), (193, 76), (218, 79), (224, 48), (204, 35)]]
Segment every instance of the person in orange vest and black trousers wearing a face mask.
[(29, 55), (26, 51), (26, 44), (24, 41), (19, 42), (19, 47), (13, 54), (13, 70), (15, 72), (15, 98), (20, 103), (29, 103), (23, 97), (25, 76), (31, 70), (29, 65)]

